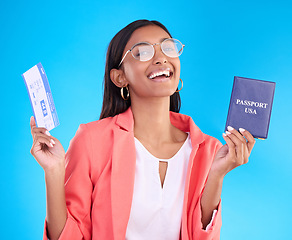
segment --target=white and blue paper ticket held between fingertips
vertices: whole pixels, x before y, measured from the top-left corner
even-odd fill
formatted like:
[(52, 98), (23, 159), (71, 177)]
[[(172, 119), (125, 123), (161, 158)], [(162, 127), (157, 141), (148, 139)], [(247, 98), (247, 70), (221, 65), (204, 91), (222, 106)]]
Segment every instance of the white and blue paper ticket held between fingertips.
[(55, 104), (47, 75), (41, 63), (33, 66), (22, 74), (34, 118), (38, 127), (45, 127), (48, 131), (59, 125)]

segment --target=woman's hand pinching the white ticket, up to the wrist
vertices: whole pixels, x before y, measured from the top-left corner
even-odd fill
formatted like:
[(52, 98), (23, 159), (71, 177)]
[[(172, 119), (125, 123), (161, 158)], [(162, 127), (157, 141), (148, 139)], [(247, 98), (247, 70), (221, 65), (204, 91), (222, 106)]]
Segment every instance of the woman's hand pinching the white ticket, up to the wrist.
[(30, 118), (33, 137), (31, 154), (45, 172), (65, 169), (65, 151), (60, 141), (51, 136), (46, 128), (37, 127), (34, 117)]

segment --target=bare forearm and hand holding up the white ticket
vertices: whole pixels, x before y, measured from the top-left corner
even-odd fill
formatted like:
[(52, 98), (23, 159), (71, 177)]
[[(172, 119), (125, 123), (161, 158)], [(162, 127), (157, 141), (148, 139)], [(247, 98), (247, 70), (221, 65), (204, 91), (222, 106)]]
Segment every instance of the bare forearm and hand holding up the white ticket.
[(47, 188), (47, 231), (50, 240), (58, 239), (67, 220), (65, 201), (65, 151), (45, 128), (30, 119), (33, 145), (31, 154), (45, 171)]

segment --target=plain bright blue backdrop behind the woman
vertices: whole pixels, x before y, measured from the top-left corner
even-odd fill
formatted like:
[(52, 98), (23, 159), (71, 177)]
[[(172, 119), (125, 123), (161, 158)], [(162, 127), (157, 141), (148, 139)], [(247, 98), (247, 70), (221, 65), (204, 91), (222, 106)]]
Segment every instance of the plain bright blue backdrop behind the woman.
[(98, 119), (105, 53), (137, 19), (164, 23), (186, 47), (181, 112), (222, 142), (235, 75), (276, 82), (269, 137), (224, 180), (221, 239), (291, 239), (291, 1), (1, 1), (1, 239), (41, 239), (42, 168), (30, 155), (32, 109), (21, 74), (41, 62), (67, 149)]

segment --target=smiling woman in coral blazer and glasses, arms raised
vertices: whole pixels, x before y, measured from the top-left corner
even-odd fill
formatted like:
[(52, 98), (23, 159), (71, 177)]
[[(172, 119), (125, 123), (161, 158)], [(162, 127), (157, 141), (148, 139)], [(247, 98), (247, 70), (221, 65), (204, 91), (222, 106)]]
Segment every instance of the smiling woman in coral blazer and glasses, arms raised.
[(101, 120), (80, 125), (66, 156), (31, 118), (47, 187), (44, 239), (220, 238), (223, 178), (247, 163), (255, 140), (229, 127), (222, 146), (178, 113), (182, 50), (157, 21), (117, 33)]

